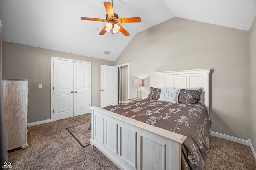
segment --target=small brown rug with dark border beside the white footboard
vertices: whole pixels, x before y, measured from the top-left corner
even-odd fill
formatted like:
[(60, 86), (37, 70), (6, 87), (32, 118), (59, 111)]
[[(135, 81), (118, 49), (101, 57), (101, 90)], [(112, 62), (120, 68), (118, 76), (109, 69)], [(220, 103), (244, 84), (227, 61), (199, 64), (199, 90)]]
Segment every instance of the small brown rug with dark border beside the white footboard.
[(72, 136), (83, 148), (90, 145), (91, 132), (86, 132), (87, 124), (88, 122), (67, 128), (70, 134), (72, 134)]

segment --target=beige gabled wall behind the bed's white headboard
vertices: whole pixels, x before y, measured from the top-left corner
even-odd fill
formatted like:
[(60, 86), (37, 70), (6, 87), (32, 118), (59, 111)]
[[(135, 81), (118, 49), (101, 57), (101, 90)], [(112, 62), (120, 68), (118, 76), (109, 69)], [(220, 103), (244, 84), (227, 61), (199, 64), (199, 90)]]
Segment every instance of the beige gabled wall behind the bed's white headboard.
[[(144, 79), (143, 98), (151, 72), (211, 68), (211, 130), (250, 137), (248, 32), (172, 18), (138, 33), (115, 61), (122, 63), (130, 63), (130, 82)], [(130, 97), (135, 94), (130, 83)]]

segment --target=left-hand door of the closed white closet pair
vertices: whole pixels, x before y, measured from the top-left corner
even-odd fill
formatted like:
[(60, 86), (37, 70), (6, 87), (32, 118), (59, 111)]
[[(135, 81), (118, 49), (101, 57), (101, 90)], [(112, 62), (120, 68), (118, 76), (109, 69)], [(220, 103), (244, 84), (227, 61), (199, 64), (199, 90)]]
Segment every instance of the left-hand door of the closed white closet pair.
[(54, 59), (53, 121), (73, 116), (73, 62)]

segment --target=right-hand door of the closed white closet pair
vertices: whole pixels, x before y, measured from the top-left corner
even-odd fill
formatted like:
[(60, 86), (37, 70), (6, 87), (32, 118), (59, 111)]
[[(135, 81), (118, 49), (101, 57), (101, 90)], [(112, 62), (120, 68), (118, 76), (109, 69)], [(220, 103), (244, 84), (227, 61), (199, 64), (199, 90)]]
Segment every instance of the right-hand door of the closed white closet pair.
[(90, 113), (90, 64), (74, 62), (74, 116)]

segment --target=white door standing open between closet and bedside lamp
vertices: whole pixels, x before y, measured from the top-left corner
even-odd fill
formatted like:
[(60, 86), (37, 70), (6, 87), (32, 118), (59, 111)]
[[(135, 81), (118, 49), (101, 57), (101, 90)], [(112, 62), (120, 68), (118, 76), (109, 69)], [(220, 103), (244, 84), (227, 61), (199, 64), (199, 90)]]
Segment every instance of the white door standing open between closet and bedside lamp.
[(117, 67), (100, 65), (100, 107), (117, 104)]

